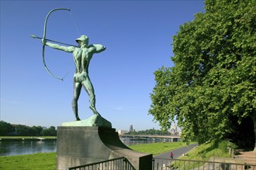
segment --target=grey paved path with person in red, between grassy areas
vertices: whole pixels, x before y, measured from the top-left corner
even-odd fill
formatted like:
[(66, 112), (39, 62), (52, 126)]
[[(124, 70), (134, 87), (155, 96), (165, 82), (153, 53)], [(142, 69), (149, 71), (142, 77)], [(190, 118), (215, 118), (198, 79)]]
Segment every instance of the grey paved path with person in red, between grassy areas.
[[(192, 148), (194, 148), (195, 146), (197, 146), (197, 144), (192, 144), (189, 146), (185, 146), (185, 147), (173, 150), (172, 151), (173, 158), (181, 157), (182, 154), (185, 154), (188, 151), (192, 150)], [(171, 151), (168, 151), (168, 152), (165, 152), (164, 154), (156, 155), (156, 156), (154, 156), (154, 158), (170, 158), (170, 155), (171, 155)]]

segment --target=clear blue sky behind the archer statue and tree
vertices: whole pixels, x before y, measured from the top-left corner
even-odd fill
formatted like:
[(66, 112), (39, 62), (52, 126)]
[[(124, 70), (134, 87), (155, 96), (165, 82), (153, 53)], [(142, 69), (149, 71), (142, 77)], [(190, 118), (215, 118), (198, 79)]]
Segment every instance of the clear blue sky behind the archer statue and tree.
[[(154, 71), (171, 62), (172, 36), (179, 26), (202, 12), (197, 1), (1, 1), (1, 121), (29, 126), (61, 126), (74, 121), (74, 62), (71, 53), (45, 49), (47, 73), (40, 39), (47, 22), (47, 39), (76, 45), (89, 37), (106, 50), (93, 56), (89, 75), (95, 88), (96, 108), (116, 130), (160, 129), (148, 114)], [(92, 116), (88, 95), (81, 91), (81, 119)]]

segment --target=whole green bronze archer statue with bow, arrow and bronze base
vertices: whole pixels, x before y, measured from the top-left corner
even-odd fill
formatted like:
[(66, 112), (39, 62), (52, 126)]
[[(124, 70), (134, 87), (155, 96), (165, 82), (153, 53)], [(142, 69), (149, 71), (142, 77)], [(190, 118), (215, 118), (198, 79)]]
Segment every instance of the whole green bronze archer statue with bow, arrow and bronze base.
[[(36, 39), (42, 39), (43, 43), (43, 50), (42, 50), (42, 56), (43, 56), (43, 65), (45, 66), (48, 73), (50, 73), (51, 76), (54, 76), (58, 80), (63, 80), (64, 78), (60, 78), (58, 76), (55, 76), (53, 73), (50, 72), (50, 70), (47, 68), (47, 65), (45, 63), (44, 59), (44, 49), (45, 46), (49, 46), (53, 49), (59, 49), (67, 53), (73, 54), (74, 64), (75, 64), (75, 72), (73, 76), (73, 83), (74, 83), (74, 94), (73, 94), (73, 100), (72, 100), (72, 109), (74, 112), (75, 120), (77, 122), (68, 122), (64, 123), (64, 125), (70, 124), (72, 125), (78, 125), (78, 126), (102, 126), (102, 127), (108, 127), (112, 128), (112, 125), (109, 121), (106, 121), (99, 112), (96, 110), (95, 107), (95, 91), (92, 86), (92, 82), (90, 80), (90, 77), (88, 75), (88, 66), (92, 59), (92, 56), (94, 53), (101, 53), (106, 49), (105, 46), (102, 46), (100, 44), (91, 44), (88, 45), (89, 39), (88, 36), (82, 35), (78, 39), (75, 39), (76, 42), (78, 42), (78, 46), (69, 45), (67, 43), (63, 42), (57, 42), (54, 40), (46, 39), (46, 33), (47, 33), (47, 19), (49, 18), (50, 14), (55, 11), (59, 10), (66, 10), (70, 11), (70, 9), (67, 8), (54, 8), (52, 9), (45, 19), (44, 27), (43, 27), (43, 38), (37, 37), (37, 36), (31, 36)], [(55, 42), (55, 43), (53, 43)], [(60, 46), (59, 44), (65, 45)], [(80, 97), (81, 88), (84, 88), (85, 91), (88, 93), (90, 106), (89, 108), (93, 112), (93, 116), (88, 118), (87, 120), (81, 121), (78, 115), (78, 99)]]

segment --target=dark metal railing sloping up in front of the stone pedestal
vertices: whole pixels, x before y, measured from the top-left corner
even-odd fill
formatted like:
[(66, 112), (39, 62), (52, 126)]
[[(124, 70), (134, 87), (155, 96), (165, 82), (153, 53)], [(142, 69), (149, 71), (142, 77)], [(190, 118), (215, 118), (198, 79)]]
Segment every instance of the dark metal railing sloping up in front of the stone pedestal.
[(80, 165), (67, 170), (136, 170), (130, 162), (122, 158), (113, 158), (102, 162), (95, 162), (88, 165)]

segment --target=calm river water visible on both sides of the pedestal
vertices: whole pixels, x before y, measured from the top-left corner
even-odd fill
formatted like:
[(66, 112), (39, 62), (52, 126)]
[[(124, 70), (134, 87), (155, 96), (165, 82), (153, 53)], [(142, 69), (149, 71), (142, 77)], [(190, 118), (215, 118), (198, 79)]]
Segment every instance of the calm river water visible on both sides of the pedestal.
[[(122, 140), (123, 141), (123, 140)], [(123, 141), (126, 146), (155, 143), (161, 141), (133, 140)], [(28, 155), (56, 151), (56, 140), (44, 141), (0, 141), (0, 156)]]

